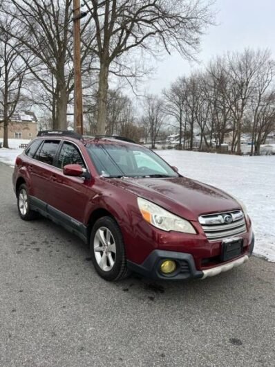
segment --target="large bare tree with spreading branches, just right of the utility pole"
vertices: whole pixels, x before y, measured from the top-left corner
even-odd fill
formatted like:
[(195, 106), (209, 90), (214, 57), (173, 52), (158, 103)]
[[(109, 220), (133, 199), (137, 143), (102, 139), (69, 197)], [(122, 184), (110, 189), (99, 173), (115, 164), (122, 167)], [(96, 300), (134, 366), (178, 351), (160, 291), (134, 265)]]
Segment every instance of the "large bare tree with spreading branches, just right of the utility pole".
[(211, 3), (200, 0), (84, 0), (93, 14), (95, 46), (99, 58), (98, 117), (99, 134), (105, 133), (108, 74), (111, 65), (122, 66), (122, 55), (133, 48), (142, 52), (170, 52), (176, 49), (191, 57), (199, 37), (211, 24)]

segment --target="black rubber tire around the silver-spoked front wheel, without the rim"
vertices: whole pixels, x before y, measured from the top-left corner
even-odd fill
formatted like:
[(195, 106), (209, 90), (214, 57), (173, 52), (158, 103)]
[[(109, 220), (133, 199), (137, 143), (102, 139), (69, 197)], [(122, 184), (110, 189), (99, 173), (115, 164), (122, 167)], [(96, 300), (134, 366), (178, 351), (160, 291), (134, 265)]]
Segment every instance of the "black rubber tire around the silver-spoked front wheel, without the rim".
[[(106, 256), (106, 267), (105, 270), (102, 269), (102, 267), (99, 266), (99, 256), (104, 256), (104, 251), (96, 251), (97, 258), (95, 255), (94, 247), (97, 247), (98, 238), (99, 238), (99, 229), (100, 231), (103, 231), (107, 235), (107, 232), (109, 231), (111, 233), (111, 240), (110, 240), (110, 246), (113, 246), (115, 244), (115, 253), (111, 253), (111, 256), (113, 256), (113, 267), (111, 267), (111, 263), (108, 260), (108, 256)], [(105, 231), (106, 230), (106, 231)], [(105, 231), (105, 232), (104, 232)], [(113, 244), (111, 244), (111, 242)], [(102, 244), (102, 241), (99, 241), (99, 247), (104, 247)], [(97, 247), (97, 249), (99, 248)], [(110, 247), (109, 247), (110, 248)], [(112, 217), (102, 217), (95, 222), (93, 229), (91, 231), (91, 237), (90, 237), (90, 249), (91, 249), (91, 258), (93, 261), (93, 265), (95, 267), (95, 270), (97, 271), (97, 274), (108, 281), (115, 281), (115, 280), (122, 280), (123, 278), (126, 278), (129, 276), (130, 271), (127, 269), (126, 265), (126, 254), (125, 254), (125, 247), (124, 242), (122, 238), (122, 233), (120, 231), (120, 227), (118, 226), (117, 222)], [(108, 249), (106, 247), (106, 249)], [(107, 251), (111, 252), (111, 251)], [(111, 269), (108, 269), (111, 268)]]

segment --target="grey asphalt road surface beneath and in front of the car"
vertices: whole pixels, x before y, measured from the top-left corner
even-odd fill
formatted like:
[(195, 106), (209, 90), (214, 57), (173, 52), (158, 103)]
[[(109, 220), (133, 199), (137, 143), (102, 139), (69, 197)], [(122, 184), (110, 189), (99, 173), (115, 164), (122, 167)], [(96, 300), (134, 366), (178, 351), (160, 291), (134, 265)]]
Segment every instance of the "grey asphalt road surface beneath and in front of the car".
[(107, 283), (88, 248), (23, 222), (0, 163), (0, 366), (275, 366), (275, 265)]

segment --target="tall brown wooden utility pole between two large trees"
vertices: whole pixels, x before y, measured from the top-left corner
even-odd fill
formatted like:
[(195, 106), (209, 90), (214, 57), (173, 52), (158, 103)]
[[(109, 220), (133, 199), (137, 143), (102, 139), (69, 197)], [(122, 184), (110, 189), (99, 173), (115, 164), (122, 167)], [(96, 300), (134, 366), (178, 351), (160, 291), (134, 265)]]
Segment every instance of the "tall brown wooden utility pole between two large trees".
[(84, 17), (80, 12), (80, 1), (73, 0), (73, 67), (75, 73), (75, 102), (74, 102), (74, 129), (83, 134), (83, 107), (82, 107), (82, 75), (80, 53), (80, 19)]

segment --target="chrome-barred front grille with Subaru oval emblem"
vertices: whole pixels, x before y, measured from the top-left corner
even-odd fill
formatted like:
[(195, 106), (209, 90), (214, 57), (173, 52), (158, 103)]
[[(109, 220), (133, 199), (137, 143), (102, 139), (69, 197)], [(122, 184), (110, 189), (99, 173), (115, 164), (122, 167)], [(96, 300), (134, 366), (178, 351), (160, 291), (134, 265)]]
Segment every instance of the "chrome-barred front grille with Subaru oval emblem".
[(247, 231), (242, 211), (201, 215), (198, 221), (209, 241), (224, 240)]

